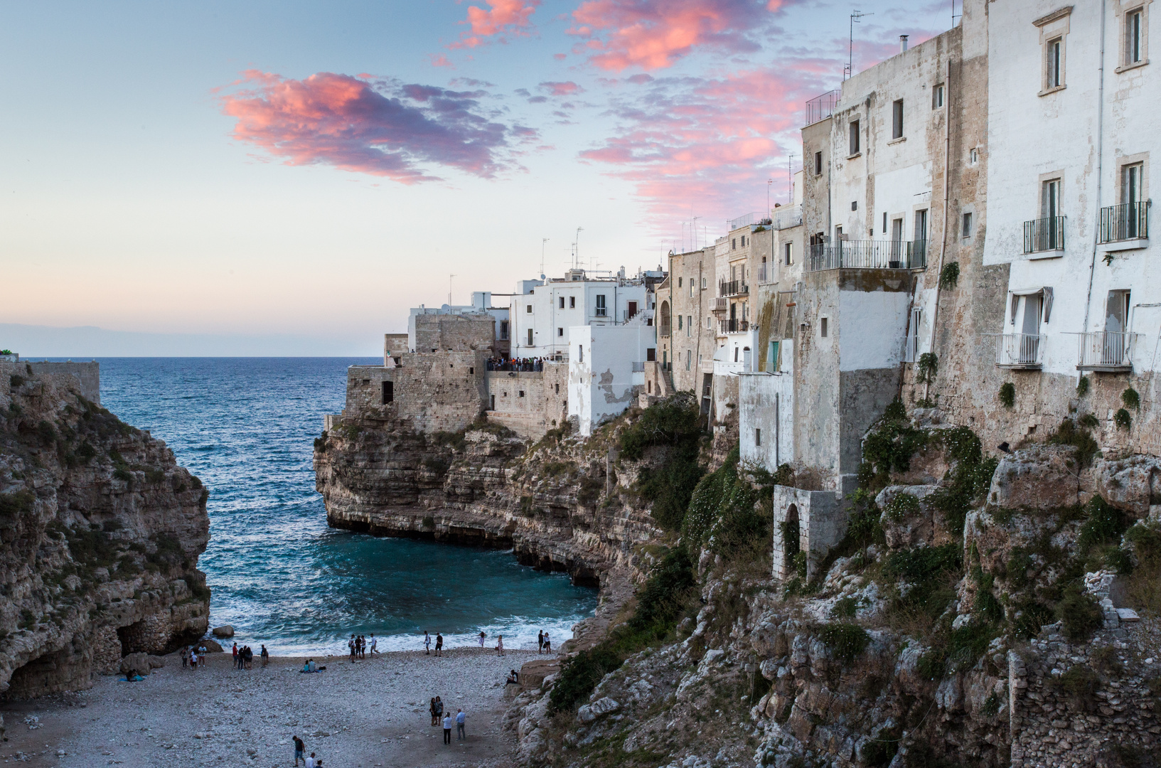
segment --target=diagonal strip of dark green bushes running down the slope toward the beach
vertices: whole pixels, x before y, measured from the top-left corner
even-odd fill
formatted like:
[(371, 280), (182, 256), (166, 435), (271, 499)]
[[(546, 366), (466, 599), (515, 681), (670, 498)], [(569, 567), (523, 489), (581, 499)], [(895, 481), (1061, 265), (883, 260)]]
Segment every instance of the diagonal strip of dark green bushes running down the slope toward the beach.
[(549, 695), (549, 710), (571, 710), (625, 659), (672, 633), (677, 619), (690, 609), (695, 595), (693, 561), (684, 548), (671, 550), (637, 594), (633, 616), (596, 646), (564, 662)]

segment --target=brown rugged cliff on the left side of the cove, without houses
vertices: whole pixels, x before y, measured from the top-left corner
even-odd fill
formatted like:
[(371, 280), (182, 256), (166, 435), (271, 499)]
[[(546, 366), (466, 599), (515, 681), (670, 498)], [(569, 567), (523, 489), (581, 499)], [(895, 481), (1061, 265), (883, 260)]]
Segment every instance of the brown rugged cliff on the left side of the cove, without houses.
[(0, 369), (0, 690), (91, 684), (201, 637), (201, 481), (165, 443), (23, 364)]

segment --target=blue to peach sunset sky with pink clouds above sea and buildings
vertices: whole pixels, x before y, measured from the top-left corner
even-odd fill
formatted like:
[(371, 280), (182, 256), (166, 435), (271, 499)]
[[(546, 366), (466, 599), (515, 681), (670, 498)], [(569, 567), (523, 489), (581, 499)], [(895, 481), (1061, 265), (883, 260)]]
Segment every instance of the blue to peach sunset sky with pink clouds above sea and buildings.
[(376, 354), (410, 307), (560, 274), (574, 243), (656, 268), (786, 202), (854, 8), (856, 72), (952, 24), (922, 0), (2, 3), (0, 349)]

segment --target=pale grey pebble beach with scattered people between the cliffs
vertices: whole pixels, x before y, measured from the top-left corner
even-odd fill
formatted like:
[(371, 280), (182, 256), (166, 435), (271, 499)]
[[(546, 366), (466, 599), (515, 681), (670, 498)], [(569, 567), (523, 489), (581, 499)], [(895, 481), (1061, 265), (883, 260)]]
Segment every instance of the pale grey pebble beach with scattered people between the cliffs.
[[(509, 669), (535, 651), (450, 648), (315, 658), (326, 670), (301, 674), (304, 658), (273, 658), (267, 667), (232, 668), (211, 653), (190, 670), (178, 654), (142, 682), (98, 676), (93, 688), (0, 708), (7, 741), (0, 761), (28, 766), (291, 766), (291, 735), (324, 768), (511, 765), (513, 735), (500, 724), (514, 686)], [(541, 656), (545, 658), (545, 656)], [(507, 688), (509, 690), (505, 690)], [(467, 739), (444, 744), (428, 699), (440, 696), (467, 713)], [(300, 763), (301, 765), (301, 763)]]

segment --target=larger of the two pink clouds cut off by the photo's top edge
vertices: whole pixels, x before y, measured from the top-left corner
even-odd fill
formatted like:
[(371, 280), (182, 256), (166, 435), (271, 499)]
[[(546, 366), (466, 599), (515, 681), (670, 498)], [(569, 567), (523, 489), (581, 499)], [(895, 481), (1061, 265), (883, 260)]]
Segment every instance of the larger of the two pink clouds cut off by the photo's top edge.
[[(769, 0), (777, 12), (788, 0)], [(585, 41), (590, 62), (620, 72), (671, 66), (694, 46), (759, 50), (750, 34), (764, 27), (752, 0), (584, 0), (569, 34)], [(574, 49), (577, 52), (577, 49)]]

